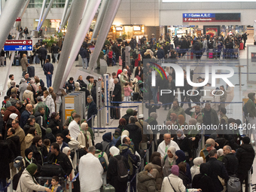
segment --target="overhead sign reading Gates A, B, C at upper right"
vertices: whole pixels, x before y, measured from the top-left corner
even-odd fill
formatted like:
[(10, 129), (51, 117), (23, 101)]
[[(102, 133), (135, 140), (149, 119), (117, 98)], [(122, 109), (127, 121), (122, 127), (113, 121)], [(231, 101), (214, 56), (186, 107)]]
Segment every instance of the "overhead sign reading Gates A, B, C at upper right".
[(240, 22), (241, 14), (183, 14), (183, 22)]

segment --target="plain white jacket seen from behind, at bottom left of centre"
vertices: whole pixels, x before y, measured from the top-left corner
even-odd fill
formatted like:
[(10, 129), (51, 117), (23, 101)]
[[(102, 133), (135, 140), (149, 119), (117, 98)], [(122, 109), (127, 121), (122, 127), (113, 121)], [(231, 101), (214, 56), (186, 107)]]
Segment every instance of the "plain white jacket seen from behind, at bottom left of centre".
[(78, 170), (81, 192), (98, 191), (102, 187), (103, 168), (93, 154), (81, 157)]

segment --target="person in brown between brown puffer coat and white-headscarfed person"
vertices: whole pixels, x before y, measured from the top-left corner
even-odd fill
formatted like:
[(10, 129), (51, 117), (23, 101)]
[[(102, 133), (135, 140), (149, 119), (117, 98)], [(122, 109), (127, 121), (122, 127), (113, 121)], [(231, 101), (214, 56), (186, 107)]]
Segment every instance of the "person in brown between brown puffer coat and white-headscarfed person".
[(148, 163), (148, 165), (152, 166), (153, 172), (151, 172), (151, 175), (153, 175), (156, 181), (157, 190), (160, 192), (163, 182), (163, 172), (160, 157), (154, 156), (151, 163)]

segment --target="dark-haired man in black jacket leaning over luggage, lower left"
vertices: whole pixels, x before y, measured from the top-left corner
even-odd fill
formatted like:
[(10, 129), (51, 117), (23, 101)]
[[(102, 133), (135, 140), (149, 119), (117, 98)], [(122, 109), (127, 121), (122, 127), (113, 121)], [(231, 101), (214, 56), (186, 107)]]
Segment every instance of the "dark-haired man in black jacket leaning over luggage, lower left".
[(72, 164), (69, 157), (59, 151), (59, 145), (56, 144), (56, 142), (53, 142), (50, 145), (50, 152), (51, 153), (48, 155), (47, 161), (59, 164), (62, 167), (64, 174), (69, 176), (69, 174), (72, 172)]

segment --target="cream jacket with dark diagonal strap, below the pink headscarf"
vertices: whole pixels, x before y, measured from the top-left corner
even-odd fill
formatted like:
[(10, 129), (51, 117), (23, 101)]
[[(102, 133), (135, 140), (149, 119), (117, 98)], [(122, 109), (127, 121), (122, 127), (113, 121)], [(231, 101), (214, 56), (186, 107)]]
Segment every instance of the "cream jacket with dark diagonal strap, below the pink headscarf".
[[(169, 178), (169, 180), (168, 180)], [(179, 178), (177, 175), (170, 174), (169, 176), (163, 178), (163, 183), (162, 183), (162, 188), (161, 192), (174, 192), (172, 187), (175, 189), (175, 191), (180, 191), (180, 192), (194, 192), (197, 191), (197, 189), (187, 189), (183, 184), (183, 181), (181, 178)], [(171, 181), (171, 184), (169, 183)]]

